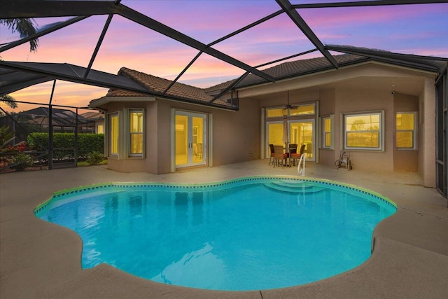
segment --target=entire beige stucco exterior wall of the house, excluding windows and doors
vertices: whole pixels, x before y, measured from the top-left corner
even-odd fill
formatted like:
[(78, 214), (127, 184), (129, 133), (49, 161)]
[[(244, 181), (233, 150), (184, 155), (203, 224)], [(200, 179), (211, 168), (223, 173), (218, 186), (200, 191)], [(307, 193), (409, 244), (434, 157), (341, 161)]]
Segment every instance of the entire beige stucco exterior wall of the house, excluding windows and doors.
[[(407, 85), (409, 94), (392, 93), (396, 80)], [(384, 64), (362, 64), (357, 67), (326, 71), (267, 83), (239, 90), (239, 111), (215, 109), (209, 106), (156, 99), (155, 102), (111, 102), (109, 113), (126, 108), (146, 109), (146, 157), (111, 158), (109, 168), (121, 172), (150, 172), (164, 174), (172, 171), (172, 109), (205, 113), (211, 122), (211, 144), (207, 144), (207, 165), (218, 166), (260, 158), (264, 136), (262, 134), (262, 108), (290, 104), (318, 103), (316, 116), (316, 144), (321, 145), (321, 117), (334, 115), (332, 149), (316, 148), (316, 162), (334, 165), (344, 149), (342, 116), (344, 113), (384, 111), (383, 150), (349, 150), (356, 169), (372, 171), (416, 171), (423, 177), (425, 186), (435, 185), (435, 91), (432, 74), (410, 69), (394, 68)], [(395, 113), (418, 111), (418, 149), (397, 151), (395, 146)], [(123, 132), (122, 132), (123, 134)], [(268, 153), (269, 151), (267, 151)], [(213, 158), (211, 160), (210, 158)]]

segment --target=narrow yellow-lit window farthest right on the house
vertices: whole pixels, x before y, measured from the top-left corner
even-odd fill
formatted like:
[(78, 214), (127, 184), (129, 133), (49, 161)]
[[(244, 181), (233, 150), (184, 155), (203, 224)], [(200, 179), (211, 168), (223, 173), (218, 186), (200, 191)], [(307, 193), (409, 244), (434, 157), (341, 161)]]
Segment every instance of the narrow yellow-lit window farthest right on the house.
[(415, 148), (416, 113), (400, 112), (396, 114), (396, 146), (401, 149)]

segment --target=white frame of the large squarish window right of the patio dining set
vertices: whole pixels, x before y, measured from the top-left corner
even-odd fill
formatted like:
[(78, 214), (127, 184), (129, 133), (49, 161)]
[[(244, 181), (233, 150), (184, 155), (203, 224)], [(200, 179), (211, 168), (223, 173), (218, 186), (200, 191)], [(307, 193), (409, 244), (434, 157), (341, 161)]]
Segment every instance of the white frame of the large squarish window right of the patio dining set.
[[(347, 132), (362, 132), (362, 131), (347, 131), (346, 130), (346, 118), (351, 116), (370, 116), (370, 115), (378, 115), (379, 116), (379, 130), (365, 130), (365, 132), (378, 132), (379, 145), (377, 147), (361, 147), (361, 146), (348, 146), (348, 134)], [(341, 137), (343, 140), (342, 144), (344, 144), (344, 150), (347, 151), (384, 151), (384, 110), (381, 111), (363, 111), (363, 112), (351, 112), (351, 113), (342, 113), (341, 115)]]

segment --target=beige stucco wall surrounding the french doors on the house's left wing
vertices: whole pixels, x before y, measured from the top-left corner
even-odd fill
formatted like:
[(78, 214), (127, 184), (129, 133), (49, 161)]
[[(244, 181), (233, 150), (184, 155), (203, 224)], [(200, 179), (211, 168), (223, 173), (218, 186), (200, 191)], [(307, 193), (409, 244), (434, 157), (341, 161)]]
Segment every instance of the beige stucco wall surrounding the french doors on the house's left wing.
[[(172, 109), (213, 115), (213, 165), (224, 165), (260, 157), (260, 109), (258, 102), (241, 101), (239, 111), (213, 109), (181, 102), (158, 99), (156, 102), (111, 103), (108, 112), (125, 108), (144, 108), (146, 111), (145, 158), (109, 158), (108, 167), (119, 172), (171, 172)], [(207, 161), (209, 163), (210, 161)]]

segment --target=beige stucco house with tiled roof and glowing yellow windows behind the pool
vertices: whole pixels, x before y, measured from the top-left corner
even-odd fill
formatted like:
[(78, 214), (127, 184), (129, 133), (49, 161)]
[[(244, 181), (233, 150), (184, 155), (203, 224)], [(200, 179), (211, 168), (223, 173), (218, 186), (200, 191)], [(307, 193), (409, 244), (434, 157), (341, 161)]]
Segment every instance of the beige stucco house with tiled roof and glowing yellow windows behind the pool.
[(290, 143), (306, 144), (311, 162), (334, 165), (349, 151), (355, 171), (419, 172), (435, 187), (435, 81), (447, 63), (334, 57), (339, 69), (297, 60), (263, 70), (275, 83), (250, 74), (207, 89), (123, 67), (154, 96), (109, 90), (90, 102), (106, 113), (108, 167), (163, 174), (268, 158), (286, 113)]

